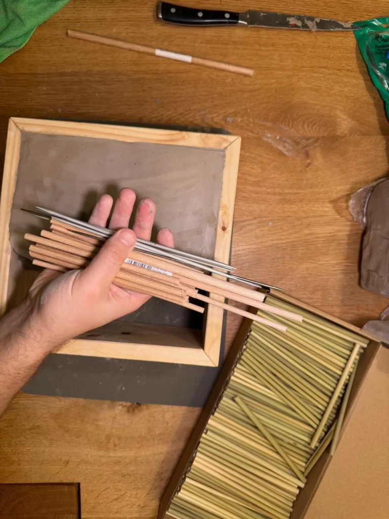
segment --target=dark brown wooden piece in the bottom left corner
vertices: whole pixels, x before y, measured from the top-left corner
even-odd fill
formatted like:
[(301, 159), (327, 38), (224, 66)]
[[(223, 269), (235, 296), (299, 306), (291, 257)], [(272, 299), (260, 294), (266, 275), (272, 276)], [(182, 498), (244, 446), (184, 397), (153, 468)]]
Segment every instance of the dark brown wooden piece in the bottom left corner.
[(76, 483), (0, 484), (0, 519), (77, 519)]

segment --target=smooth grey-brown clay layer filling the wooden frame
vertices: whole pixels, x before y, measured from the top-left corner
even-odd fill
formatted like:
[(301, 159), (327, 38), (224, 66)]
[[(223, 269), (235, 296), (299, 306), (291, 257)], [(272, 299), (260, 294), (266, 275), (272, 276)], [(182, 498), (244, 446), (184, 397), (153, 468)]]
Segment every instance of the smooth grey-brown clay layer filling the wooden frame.
[(43, 206), (86, 219), (100, 195), (115, 198), (127, 186), (137, 199), (156, 202), (155, 228), (171, 228), (176, 247), (212, 257), (224, 159), (214, 149), (23, 133), (12, 247), (28, 257), (22, 236), (43, 223), (20, 207)]

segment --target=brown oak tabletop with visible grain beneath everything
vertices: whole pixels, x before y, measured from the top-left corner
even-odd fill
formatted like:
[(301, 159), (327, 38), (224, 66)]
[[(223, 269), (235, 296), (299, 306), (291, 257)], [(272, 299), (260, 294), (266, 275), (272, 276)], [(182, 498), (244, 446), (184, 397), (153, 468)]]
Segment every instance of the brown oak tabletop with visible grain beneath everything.
[[(223, 0), (223, 6), (243, 4)], [(383, 0), (244, 6), (343, 20), (387, 13)], [(80, 42), (66, 29), (249, 66), (255, 74)], [(232, 249), (240, 274), (283, 286), (357, 325), (386, 307), (384, 298), (358, 286), (362, 229), (348, 212), (356, 189), (387, 174), (389, 134), (353, 34), (174, 27), (156, 21), (154, 1), (71, 0), (0, 64), (0, 92), (0, 155), (10, 116), (240, 135)], [(228, 345), (239, 323), (229, 316)], [(21, 394), (0, 422), (0, 482), (80, 483), (85, 519), (155, 517), (199, 413)]]

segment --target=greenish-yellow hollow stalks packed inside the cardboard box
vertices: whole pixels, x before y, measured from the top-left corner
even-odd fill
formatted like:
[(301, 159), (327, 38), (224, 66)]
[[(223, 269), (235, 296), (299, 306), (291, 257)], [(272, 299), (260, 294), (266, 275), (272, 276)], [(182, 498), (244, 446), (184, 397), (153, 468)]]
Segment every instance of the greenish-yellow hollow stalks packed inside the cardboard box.
[(279, 298), (266, 301), (303, 322), (277, 316), (288, 325), (281, 334), (253, 321), (170, 503), (176, 519), (287, 519), (317, 460), (331, 442), (336, 448), (368, 340)]

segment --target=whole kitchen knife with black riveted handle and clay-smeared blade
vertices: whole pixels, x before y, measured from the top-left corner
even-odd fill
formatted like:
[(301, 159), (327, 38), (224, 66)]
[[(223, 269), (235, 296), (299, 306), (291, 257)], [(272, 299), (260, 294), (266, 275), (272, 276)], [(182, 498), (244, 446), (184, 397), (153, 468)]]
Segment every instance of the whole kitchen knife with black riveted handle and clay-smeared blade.
[(329, 18), (287, 15), (270, 11), (216, 11), (193, 9), (181, 5), (159, 2), (157, 15), (160, 20), (179, 25), (238, 25), (246, 27), (271, 27), (276, 29), (302, 29), (308, 31), (354, 31), (360, 29), (351, 22), (340, 22)]

